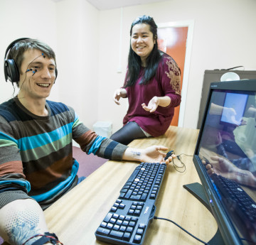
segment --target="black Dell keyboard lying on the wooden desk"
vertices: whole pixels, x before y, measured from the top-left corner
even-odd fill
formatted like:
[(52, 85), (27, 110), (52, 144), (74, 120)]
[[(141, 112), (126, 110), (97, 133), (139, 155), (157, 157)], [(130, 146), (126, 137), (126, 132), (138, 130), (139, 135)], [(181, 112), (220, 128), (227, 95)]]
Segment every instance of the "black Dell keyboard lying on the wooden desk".
[(141, 163), (97, 228), (98, 240), (111, 244), (142, 244), (166, 170), (165, 163)]

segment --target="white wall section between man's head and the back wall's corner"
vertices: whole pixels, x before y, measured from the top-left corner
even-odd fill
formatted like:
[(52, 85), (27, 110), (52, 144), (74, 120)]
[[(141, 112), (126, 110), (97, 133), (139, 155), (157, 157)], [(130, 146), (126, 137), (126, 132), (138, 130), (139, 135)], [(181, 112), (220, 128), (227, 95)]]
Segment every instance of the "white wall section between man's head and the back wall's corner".
[(98, 14), (85, 0), (56, 4), (60, 101), (70, 105), (92, 129), (97, 121)]

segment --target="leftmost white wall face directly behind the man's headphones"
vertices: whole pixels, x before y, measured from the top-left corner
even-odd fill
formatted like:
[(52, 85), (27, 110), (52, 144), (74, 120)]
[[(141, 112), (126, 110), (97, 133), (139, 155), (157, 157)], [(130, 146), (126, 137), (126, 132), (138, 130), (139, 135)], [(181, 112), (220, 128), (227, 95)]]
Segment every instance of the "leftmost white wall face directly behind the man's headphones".
[[(50, 0), (0, 1), (0, 103), (14, 93), (11, 82), (4, 80), (6, 48), (17, 38), (38, 38), (57, 50), (55, 17), (55, 3)], [(54, 98), (58, 98), (58, 86), (53, 87), (49, 97)]]

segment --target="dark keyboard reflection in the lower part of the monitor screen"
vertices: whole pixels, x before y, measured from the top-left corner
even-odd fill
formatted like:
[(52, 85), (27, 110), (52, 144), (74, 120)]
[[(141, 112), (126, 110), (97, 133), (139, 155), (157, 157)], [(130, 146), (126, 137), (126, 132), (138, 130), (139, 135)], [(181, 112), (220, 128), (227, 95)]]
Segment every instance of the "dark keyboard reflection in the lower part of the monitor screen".
[(213, 174), (210, 176), (214, 184), (218, 187), (218, 192), (223, 202), (228, 206), (228, 211), (235, 219), (240, 219), (246, 232), (256, 234), (256, 203), (247, 195), (234, 180), (224, 178), (221, 175)]

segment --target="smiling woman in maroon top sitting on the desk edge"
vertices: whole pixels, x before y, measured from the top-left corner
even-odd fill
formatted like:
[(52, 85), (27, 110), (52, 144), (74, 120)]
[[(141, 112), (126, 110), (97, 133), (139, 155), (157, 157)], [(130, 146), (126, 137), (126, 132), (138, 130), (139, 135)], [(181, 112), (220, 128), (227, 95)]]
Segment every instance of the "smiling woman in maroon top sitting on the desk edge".
[(157, 26), (150, 16), (140, 16), (131, 26), (127, 74), (124, 86), (114, 92), (129, 100), (122, 129), (110, 138), (127, 145), (136, 138), (157, 137), (166, 132), (181, 103), (181, 70), (171, 56), (158, 49)]

